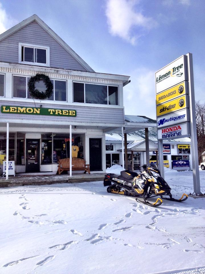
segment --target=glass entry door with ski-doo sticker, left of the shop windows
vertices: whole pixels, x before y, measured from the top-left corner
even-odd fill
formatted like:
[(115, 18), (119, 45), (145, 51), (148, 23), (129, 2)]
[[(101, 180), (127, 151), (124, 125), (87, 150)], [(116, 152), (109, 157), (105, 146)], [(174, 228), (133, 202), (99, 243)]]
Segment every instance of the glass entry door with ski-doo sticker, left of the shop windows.
[(26, 139), (26, 172), (40, 172), (40, 139)]

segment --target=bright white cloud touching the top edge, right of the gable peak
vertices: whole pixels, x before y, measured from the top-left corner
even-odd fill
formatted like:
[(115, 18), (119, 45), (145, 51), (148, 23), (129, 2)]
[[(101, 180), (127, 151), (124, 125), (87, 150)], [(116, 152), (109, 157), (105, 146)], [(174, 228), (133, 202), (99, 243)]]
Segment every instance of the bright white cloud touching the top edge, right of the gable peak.
[[(106, 17), (110, 34), (119, 36), (135, 45), (145, 29), (156, 26), (156, 22), (136, 12), (137, 0), (107, 0)], [(137, 34), (136, 34), (136, 28)], [(143, 28), (143, 30), (142, 30)]]

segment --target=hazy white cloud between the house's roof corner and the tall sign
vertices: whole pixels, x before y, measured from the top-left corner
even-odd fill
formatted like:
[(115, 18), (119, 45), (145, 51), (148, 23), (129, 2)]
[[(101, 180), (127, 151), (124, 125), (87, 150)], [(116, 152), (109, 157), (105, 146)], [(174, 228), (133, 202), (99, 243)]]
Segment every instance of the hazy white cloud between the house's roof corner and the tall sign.
[(130, 79), (123, 89), (125, 114), (155, 119), (155, 72), (139, 68), (132, 72)]

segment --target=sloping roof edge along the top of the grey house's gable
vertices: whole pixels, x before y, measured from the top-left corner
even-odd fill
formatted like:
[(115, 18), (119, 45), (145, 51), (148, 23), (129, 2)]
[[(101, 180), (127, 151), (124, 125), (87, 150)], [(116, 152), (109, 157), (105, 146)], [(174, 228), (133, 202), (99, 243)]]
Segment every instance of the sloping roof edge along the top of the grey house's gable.
[(48, 25), (46, 25), (46, 23), (44, 23), (44, 21), (42, 21), (36, 14), (28, 17), (27, 19), (25, 19), (24, 21), (20, 22), (19, 24), (15, 25), (14, 27), (12, 27), (11, 29), (5, 31), (4, 33), (2, 33), (0, 35), (0, 41), (2, 41), (3, 39), (7, 38), (8, 36), (10, 36), (11, 34), (19, 31), (20, 29), (22, 29), (23, 27), (25, 27), (26, 25), (30, 24), (31, 22), (35, 21), (36, 23), (38, 23), (48, 34), (50, 34), (78, 63), (81, 64), (81, 66), (83, 66), (86, 71), (89, 72), (95, 72), (85, 61), (83, 61), (83, 59), (77, 55), (77, 53), (75, 53), (75, 51), (73, 51), (71, 49), (71, 47), (69, 47), (50, 27), (48, 27)]

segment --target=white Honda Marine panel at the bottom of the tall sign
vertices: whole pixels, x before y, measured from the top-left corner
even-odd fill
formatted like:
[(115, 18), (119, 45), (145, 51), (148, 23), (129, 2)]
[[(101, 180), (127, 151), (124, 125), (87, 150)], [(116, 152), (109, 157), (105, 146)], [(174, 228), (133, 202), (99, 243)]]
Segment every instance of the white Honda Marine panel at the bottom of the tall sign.
[(167, 128), (160, 128), (158, 129), (158, 139), (176, 139), (181, 138), (182, 136), (189, 136), (190, 129), (189, 124), (177, 124), (175, 126), (169, 126)]

